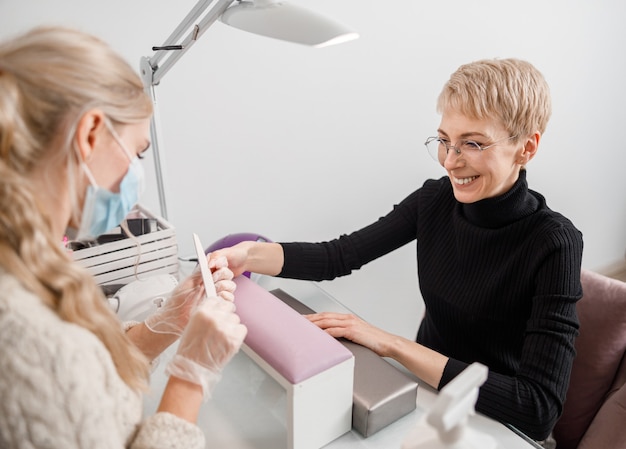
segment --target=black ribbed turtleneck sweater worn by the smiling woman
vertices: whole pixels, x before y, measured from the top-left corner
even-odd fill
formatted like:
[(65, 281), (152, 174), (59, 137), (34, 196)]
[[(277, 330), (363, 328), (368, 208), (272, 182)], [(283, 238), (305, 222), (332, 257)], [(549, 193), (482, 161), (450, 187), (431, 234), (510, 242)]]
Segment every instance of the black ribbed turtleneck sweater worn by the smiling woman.
[(330, 280), (417, 239), (426, 306), (417, 342), (449, 357), (439, 388), (489, 367), (476, 409), (544, 439), (561, 414), (578, 334), (582, 235), (528, 189), (459, 203), (429, 180), (386, 216), (321, 243), (283, 243), (279, 276)]

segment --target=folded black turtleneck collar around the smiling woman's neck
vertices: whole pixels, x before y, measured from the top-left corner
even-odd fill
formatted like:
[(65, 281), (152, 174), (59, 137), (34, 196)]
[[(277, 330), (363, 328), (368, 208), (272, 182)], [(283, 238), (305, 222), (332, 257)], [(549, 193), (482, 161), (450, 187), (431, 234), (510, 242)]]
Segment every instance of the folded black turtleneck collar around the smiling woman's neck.
[(484, 228), (499, 228), (535, 212), (539, 201), (528, 190), (526, 170), (521, 170), (508, 192), (461, 206), (463, 215), (471, 223)]

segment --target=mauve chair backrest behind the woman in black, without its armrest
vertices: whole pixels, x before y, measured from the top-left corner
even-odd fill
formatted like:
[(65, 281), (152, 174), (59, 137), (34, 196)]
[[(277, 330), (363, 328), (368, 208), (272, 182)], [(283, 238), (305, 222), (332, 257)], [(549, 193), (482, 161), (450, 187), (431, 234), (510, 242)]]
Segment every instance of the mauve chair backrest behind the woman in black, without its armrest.
[[(554, 428), (559, 449), (578, 446), (607, 397), (626, 349), (626, 283), (589, 270), (582, 270), (581, 283), (576, 358), (563, 414)], [(611, 408), (607, 404), (604, 413)]]

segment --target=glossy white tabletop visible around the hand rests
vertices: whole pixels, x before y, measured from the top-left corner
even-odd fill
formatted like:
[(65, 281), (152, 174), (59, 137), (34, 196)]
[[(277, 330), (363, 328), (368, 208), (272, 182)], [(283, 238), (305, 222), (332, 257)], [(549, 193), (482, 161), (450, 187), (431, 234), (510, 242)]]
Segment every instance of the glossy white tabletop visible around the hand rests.
[[(254, 279), (254, 278), (253, 278)], [(313, 310), (347, 311), (315, 283), (270, 277), (256, 279), (268, 290), (281, 288)], [(147, 395), (144, 411), (156, 410), (166, 376), (163, 368), (176, 346), (170, 347), (152, 374), (152, 393)], [(403, 367), (390, 363), (404, 370)], [(404, 370), (406, 372), (406, 370)], [(419, 382), (419, 381), (418, 381)], [(416, 409), (368, 438), (352, 430), (325, 446), (327, 449), (401, 448), (437, 398), (435, 390), (420, 382)], [(224, 369), (223, 377), (200, 413), (199, 426), (207, 437), (207, 448), (283, 449), (287, 447), (286, 395), (282, 387), (240, 351)], [(314, 422), (311, 425), (315, 425)], [(503, 424), (483, 415), (469, 418), (472, 429), (497, 440), (499, 449), (529, 449), (537, 446)]]

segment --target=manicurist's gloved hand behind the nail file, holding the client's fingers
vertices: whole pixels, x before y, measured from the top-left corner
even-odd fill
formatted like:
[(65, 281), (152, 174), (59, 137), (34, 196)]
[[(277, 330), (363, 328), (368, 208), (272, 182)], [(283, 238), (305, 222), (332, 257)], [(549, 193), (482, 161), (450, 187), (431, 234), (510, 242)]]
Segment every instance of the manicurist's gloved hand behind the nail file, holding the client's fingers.
[[(228, 268), (226, 258), (211, 260), (209, 268), (214, 270), (212, 277), (218, 296), (232, 302), (235, 299), (234, 291), (237, 285), (233, 282), (233, 272)], [(202, 274), (196, 268), (172, 291), (164, 305), (144, 320), (144, 324), (152, 332), (180, 336), (189, 322), (191, 312), (205, 297)]]

